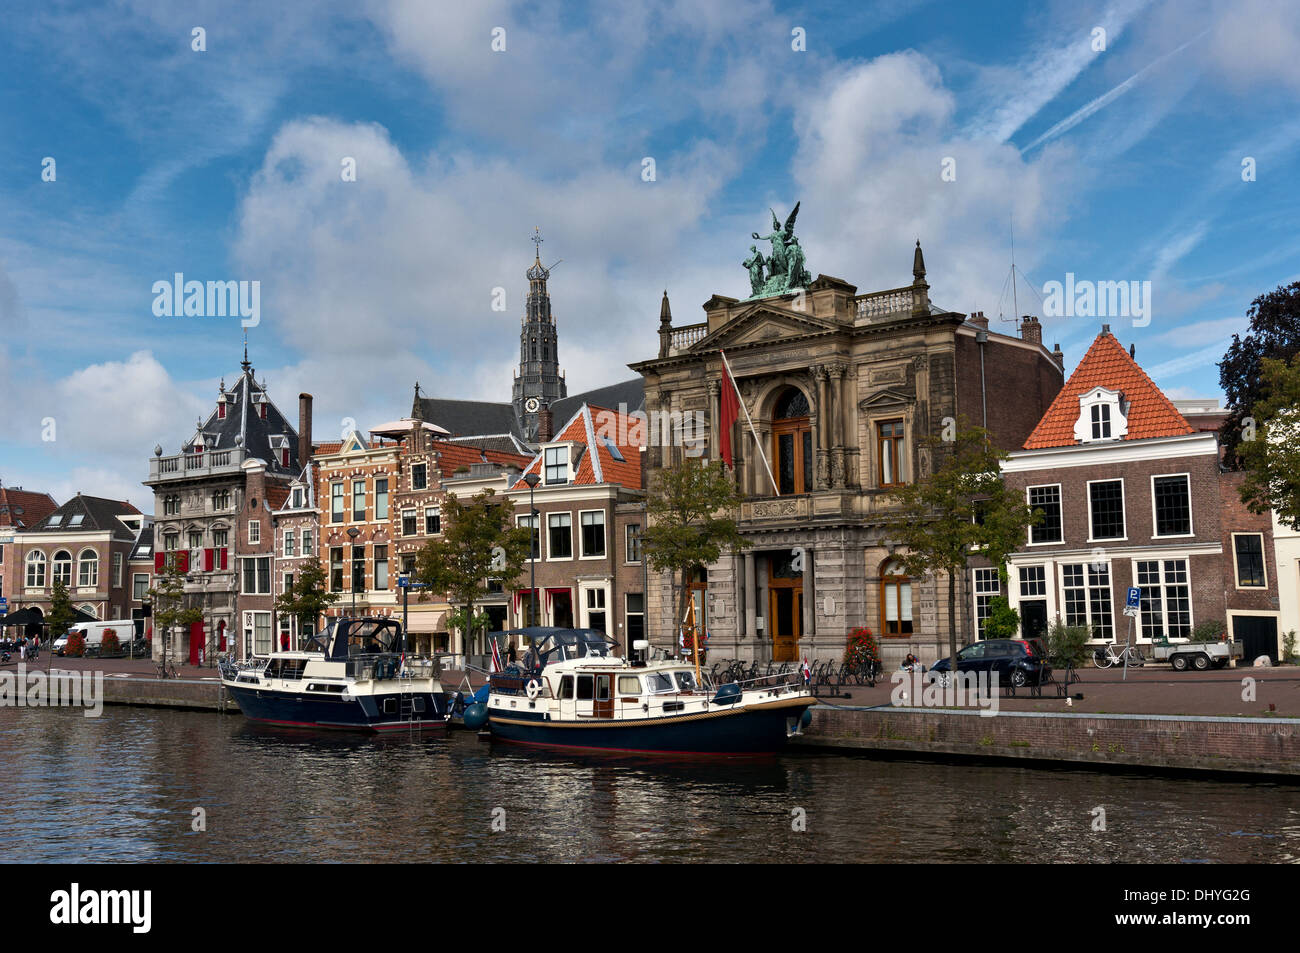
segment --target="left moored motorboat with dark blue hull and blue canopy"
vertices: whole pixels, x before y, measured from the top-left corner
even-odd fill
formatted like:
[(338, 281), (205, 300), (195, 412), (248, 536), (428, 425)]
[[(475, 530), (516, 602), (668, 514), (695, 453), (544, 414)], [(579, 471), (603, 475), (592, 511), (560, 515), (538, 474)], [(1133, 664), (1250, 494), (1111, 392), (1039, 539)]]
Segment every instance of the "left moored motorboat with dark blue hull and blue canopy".
[(222, 663), (221, 684), (255, 722), (373, 732), (445, 728), (438, 663), (402, 647), (395, 620), (334, 619), (307, 650)]

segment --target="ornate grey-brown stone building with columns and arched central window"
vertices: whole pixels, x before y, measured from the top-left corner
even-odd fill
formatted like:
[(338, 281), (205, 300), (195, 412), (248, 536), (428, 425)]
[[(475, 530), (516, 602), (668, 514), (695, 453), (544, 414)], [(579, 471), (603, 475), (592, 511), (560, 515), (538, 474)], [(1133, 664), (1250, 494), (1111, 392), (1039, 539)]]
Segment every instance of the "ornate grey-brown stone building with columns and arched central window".
[[(933, 307), (919, 243), (911, 285), (858, 294), (823, 274), (797, 294), (714, 295), (703, 307), (705, 321), (673, 326), (664, 295), (659, 355), (630, 367), (645, 378), (651, 419), (705, 421), (703, 433), (667, 441), (677, 446), (649, 447), (651, 481), (688, 450), (719, 458), (722, 351), (775, 473), (742, 415), (731, 443), (751, 545), (693, 584), (711, 651), (838, 657), (866, 625), (884, 637), (887, 662), (907, 651), (933, 658), (946, 644), (948, 581), (910, 580), (892, 558), (890, 488), (928, 477), (937, 462), (926, 439), (948, 420), (987, 423), (998, 446), (1019, 447), (1061, 389), (1060, 348), (1043, 346), (1034, 319), (1015, 337), (989, 332), (980, 315)], [(675, 605), (670, 580), (651, 575), (658, 644), (673, 638)], [(965, 592), (957, 605), (968, 605)], [(968, 625), (967, 611), (958, 627)]]

